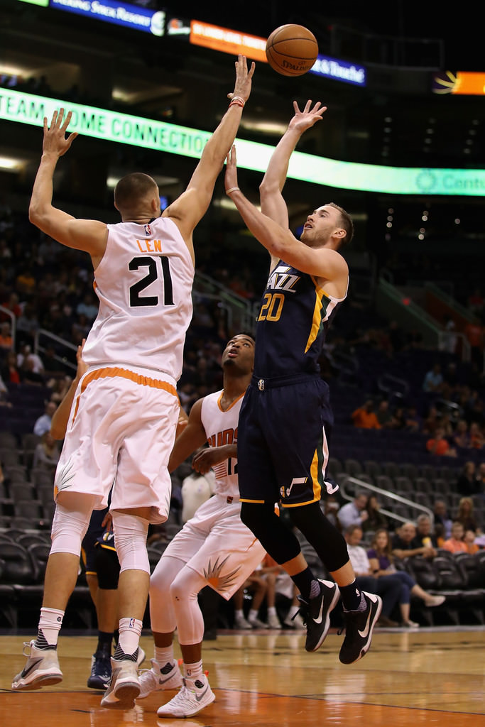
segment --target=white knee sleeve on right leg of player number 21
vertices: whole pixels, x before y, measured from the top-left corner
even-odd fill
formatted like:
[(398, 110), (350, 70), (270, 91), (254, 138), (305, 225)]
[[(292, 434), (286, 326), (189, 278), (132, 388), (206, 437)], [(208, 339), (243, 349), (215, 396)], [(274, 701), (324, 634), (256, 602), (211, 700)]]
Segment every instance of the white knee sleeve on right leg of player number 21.
[(150, 561), (146, 549), (148, 520), (137, 515), (113, 511), (113, 531), (116, 553), (122, 571), (145, 571), (150, 575)]

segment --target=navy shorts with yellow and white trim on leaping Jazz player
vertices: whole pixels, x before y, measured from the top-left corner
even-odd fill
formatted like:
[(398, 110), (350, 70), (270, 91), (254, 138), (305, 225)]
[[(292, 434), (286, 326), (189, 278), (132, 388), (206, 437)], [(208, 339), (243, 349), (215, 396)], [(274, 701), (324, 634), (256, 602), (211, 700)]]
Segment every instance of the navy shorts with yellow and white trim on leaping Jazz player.
[(318, 501), (332, 425), (329, 387), (318, 374), (252, 377), (238, 425), (241, 500), (283, 507)]

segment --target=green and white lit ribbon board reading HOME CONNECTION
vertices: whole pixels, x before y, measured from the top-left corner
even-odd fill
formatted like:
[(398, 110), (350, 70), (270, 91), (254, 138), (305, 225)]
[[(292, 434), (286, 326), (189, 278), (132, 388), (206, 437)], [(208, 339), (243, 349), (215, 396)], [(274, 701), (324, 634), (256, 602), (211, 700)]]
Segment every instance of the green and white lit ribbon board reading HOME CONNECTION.
[[(65, 103), (54, 98), (0, 88), (0, 119), (42, 126), (59, 108), (73, 111), (69, 131), (87, 137), (129, 144), (169, 154), (200, 158), (212, 132), (165, 121), (144, 119), (94, 106)], [(268, 144), (237, 139), (238, 164), (265, 172), (274, 148)], [(295, 151), (289, 161), (292, 179), (341, 189), (392, 194), (484, 196), (485, 170), (422, 169), (337, 161)]]

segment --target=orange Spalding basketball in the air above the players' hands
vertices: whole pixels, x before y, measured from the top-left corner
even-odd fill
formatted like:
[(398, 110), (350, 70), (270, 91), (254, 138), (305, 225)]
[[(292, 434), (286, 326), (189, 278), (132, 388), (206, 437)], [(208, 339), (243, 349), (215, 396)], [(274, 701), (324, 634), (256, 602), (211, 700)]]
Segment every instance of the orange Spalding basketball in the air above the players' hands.
[(280, 25), (266, 41), (266, 57), (282, 76), (302, 76), (318, 56), (316, 37), (303, 25)]

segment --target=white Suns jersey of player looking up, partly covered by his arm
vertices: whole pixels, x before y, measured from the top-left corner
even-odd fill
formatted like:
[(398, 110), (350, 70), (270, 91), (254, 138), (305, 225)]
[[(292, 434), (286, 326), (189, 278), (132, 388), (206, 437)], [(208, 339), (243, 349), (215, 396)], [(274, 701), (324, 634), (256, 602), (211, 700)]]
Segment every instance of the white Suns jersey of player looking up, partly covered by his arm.
[[(238, 441), (239, 411), (244, 394), (231, 404), (228, 411), (220, 408), (223, 391), (209, 394), (202, 400), (201, 422), (211, 447), (236, 444)], [(229, 457), (212, 467), (215, 473), (215, 492), (217, 494), (239, 497), (238, 461)]]

